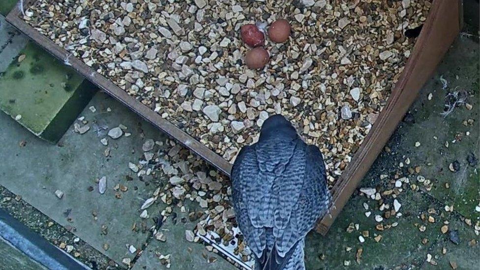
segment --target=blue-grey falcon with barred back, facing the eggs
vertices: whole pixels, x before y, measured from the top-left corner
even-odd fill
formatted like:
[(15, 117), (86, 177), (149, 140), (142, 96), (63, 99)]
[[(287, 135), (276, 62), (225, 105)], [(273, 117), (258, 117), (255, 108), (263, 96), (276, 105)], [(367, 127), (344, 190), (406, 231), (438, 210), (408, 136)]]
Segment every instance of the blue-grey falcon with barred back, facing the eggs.
[(232, 204), (256, 270), (305, 269), (305, 237), (328, 213), (323, 155), (282, 115), (270, 116), (258, 142), (244, 146), (231, 171)]

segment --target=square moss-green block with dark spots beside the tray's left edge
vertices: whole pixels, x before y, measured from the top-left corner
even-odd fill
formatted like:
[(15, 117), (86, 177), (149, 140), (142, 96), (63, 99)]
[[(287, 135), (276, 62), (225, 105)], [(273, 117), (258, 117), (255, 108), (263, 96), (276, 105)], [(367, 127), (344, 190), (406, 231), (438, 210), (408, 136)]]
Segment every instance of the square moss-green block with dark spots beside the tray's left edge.
[[(56, 142), (90, 100), (94, 87), (29, 43), (0, 77), (0, 109), (35, 135)], [(18, 119), (19, 117), (17, 117)]]

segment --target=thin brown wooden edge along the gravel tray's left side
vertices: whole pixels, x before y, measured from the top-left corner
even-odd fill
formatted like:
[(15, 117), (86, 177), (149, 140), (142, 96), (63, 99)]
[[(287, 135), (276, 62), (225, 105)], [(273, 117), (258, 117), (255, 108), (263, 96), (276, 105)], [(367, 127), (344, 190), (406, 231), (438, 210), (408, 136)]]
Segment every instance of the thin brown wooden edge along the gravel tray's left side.
[[(31, 2), (34, 0), (24, 0), (24, 7), (27, 8)], [(61, 48), (59, 45), (55, 44), (52, 40), (35, 30), (33, 27), (24, 22), (20, 18), (21, 12), (18, 8), (14, 8), (10, 13), (8, 13), (6, 20), (12, 24), (15, 28), (25, 33), (30, 39), (35, 41), (38, 45), (45, 48), (50, 54), (58, 58), (61, 61), (64, 61), (68, 58), (68, 61), (73, 69), (78, 73), (82, 74), (90, 80), (93, 84), (97, 85), (100, 89), (107, 92), (109, 95), (113, 96), (130, 110), (134, 111), (140, 115), (145, 120), (149, 121), (154, 126), (158, 127), (160, 130), (165, 132), (168, 136), (177, 140), (185, 146), (186, 148), (192, 150), (200, 157), (205, 159), (207, 162), (212, 164), (215, 168), (230, 176), (230, 171), (232, 165), (225, 160), (223, 157), (219, 156), (208, 147), (201, 144), (199, 141), (182, 131), (180, 128), (175, 126), (170, 121), (164, 120), (160, 115), (155, 113), (152, 109), (142, 104), (140, 101), (136, 100), (134, 97), (128, 95), (124, 90), (121, 90), (117, 85), (112, 83), (110, 80), (97, 73), (91, 67), (86, 65), (81, 60), (76, 58), (70, 58), (69, 53)]]

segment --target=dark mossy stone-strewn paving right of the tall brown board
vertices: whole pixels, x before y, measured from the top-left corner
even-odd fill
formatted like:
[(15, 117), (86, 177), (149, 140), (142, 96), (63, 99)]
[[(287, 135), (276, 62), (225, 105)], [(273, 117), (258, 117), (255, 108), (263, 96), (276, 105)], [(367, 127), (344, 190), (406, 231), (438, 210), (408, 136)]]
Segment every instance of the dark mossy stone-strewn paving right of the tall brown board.
[[(442, 89), (440, 76), (449, 82), (446, 90)], [(468, 110), (464, 105), (459, 106), (444, 117), (441, 113), (445, 95), (455, 89), (468, 91), (468, 103), (473, 108)], [(429, 93), (432, 93), (431, 100)], [(463, 124), (468, 119), (475, 120), (473, 125)], [(455, 136), (457, 140), (452, 143)], [(458, 140), (460, 137), (461, 141)], [(449, 148), (445, 147), (446, 141), (450, 143)], [(415, 147), (416, 142), (420, 142), (419, 147)], [(391, 189), (391, 179), (395, 174), (408, 176), (412, 182), (419, 184), (419, 191), (408, 189), (397, 197), (402, 204), (400, 210), (403, 215), (382, 222), (398, 222), (398, 225), (385, 231), (376, 230), (375, 226), (379, 223), (374, 216), (382, 213), (378, 210), (379, 205), (360, 196), (357, 191), (325, 238), (315, 233), (308, 235), (305, 251), (307, 269), (451, 269), (450, 261), (458, 269), (479, 269), (479, 237), (474, 233), (473, 226), (465, 222), (465, 218), (470, 218), (473, 224), (479, 220), (479, 212), (475, 210), (479, 205), (479, 164), (477, 160), (473, 166), (468, 165), (466, 160), (471, 152), (479, 158), (478, 41), (459, 38), (454, 43), (387, 146), (389, 151), (384, 150), (377, 158), (359, 188)], [(407, 158), (410, 165), (406, 164)], [(449, 170), (449, 164), (454, 160), (460, 163), (460, 170), (455, 173)], [(400, 168), (400, 163), (404, 163), (404, 167)], [(421, 167), (420, 173), (408, 173), (408, 167), (416, 166)], [(380, 180), (382, 174), (389, 177)], [(432, 180), (431, 190), (417, 182), (418, 175)], [(446, 183), (450, 184), (450, 188), (446, 188)], [(363, 203), (369, 205), (371, 215), (368, 218), (364, 214), (367, 210), (363, 208)], [(391, 199), (386, 203), (391, 204)], [(446, 205), (453, 205), (453, 213), (444, 210)], [(429, 210), (435, 210), (435, 213), (430, 214)], [(432, 215), (435, 222), (422, 220), (422, 214)], [(348, 233), (346, 229), (352, 222), (359, 224), (360, 229)], [(458, 230), (458, 245), (449, 240), (449, 233), (441, 233), (444, 222), (450, 223), (449, 231)], [(419, 230), (421, 225), (426, 227), (424, 232)], [(362, 231), (369, 232), (364, 243), (359, 241)], [(373, 239), (376, 235), (382, 235), (378, 243)], [(347, 251), (348, 247), (352, 249)], [(442, 253), (444, 247), (447, 250), (445, 255)], [(357, 263), (359, 248), (363, 251), (360, 263)], [(427, 254), (432, 255), (436, 267), (426, 261)], [(345, 261), (349, 261), (350, 266), (344, 267)]]

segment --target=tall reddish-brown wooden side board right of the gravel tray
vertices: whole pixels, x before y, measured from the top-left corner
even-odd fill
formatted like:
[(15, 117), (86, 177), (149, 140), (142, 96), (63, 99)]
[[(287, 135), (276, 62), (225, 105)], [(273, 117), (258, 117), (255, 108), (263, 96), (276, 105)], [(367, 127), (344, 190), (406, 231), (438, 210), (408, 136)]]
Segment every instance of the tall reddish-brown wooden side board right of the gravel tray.
[[(380, 112), (372, 129), (352, 158), (352, 162), (333, 186), (334, 207), (330, 210), (330, 216), (323, 217), (317, 223), (317, 232), (323, 235), (328, 232), (334, 219), (345, 206), (360, 180), (387, 143), (398, 122), (412, 105), (421, 87), (430, 78), (457, 36), (460, 31), (458, 22), (461, 22), (461, 19), (458, 18), (461, 15), (459, 12), (455, 12), (455, 8), (461, 7), (461, 3), (458, 2), (461, 1), (435, 0), (433, 2), (412, 55), (392, 90), (387, 106)], [(449, 23), (451, 27), (445, 27), (445, 24)], [(431, 50), (432, 46), (436, 48)], [(425, 55), (431, 56), (426, 64)], [(419, 72), (421, 75), (414, 72)]]

